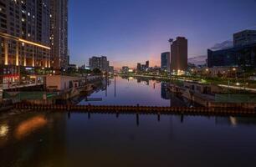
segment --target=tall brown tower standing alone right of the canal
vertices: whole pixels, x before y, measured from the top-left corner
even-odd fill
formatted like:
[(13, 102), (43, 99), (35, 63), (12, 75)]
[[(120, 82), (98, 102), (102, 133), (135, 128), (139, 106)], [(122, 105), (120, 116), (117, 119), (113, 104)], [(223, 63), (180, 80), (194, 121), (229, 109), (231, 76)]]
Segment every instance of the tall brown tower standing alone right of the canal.
[(176, 41), (171, 42), (171, 70), (184, 71), (186, 69), (187, 69), (187, 39), (184, 37), (177, 37)]

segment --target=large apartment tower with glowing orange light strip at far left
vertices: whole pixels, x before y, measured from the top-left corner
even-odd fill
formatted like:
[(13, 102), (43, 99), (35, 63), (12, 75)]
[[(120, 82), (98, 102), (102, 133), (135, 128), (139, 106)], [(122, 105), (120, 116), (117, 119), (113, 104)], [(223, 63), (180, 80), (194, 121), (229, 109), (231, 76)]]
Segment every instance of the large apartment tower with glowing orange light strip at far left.
[(50, 0), (0, 1), (0, 80), (20, 68), (50, 68)]

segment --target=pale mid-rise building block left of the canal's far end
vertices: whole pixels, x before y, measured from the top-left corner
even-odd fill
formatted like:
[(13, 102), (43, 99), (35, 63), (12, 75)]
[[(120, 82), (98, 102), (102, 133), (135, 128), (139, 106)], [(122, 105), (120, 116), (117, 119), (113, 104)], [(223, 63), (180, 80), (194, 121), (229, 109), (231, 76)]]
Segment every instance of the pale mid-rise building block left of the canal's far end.
[(105, 56), (89, 58), (90, 69), (99, 68), (101, 71), (108, 72), (110, 68), (110, 62)]

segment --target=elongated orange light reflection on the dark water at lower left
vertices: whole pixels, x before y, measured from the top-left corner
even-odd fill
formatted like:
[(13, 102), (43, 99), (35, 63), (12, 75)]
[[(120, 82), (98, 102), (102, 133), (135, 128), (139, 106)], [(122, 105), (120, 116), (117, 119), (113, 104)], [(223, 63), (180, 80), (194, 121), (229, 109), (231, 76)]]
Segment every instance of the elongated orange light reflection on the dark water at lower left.
[(43, 116), (36, 116), (32, 119), (25, 120), (18, 125), (15, 136), (16, 138), (21, 139), (32, 133), (34, 130), (42, 128), (45, 124), (47, 124), (47, 120), (44, 119)]

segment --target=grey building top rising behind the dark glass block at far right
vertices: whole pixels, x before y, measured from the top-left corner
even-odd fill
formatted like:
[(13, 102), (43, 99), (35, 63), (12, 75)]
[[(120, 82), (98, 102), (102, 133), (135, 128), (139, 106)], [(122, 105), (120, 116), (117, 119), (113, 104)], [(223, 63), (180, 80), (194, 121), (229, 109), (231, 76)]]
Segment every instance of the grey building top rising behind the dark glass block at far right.
[(233, 34), (233, 46), (244, 46), (256, 43), (256, 30), (244, 30)]

